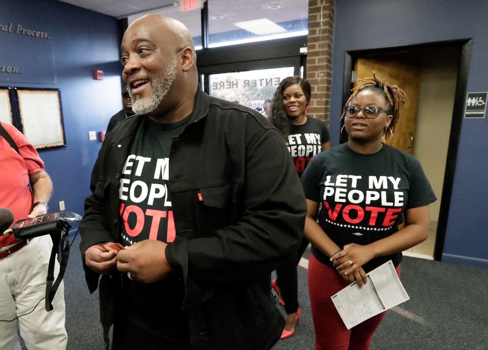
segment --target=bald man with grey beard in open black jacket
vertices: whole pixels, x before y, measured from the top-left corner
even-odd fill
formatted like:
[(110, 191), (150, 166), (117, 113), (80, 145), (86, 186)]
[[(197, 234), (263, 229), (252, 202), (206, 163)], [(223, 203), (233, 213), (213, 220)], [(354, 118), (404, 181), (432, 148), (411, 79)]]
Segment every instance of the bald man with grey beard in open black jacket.
[(80, 225), (107, 346), (113, 323), (115, 349), (271, 348), (285, 323), (270, 272), (296, 252), (306, 214), (283, 138), (199, 89), (182, 23), (134, 21), (121, 56), (139, 117), (107, 134)]

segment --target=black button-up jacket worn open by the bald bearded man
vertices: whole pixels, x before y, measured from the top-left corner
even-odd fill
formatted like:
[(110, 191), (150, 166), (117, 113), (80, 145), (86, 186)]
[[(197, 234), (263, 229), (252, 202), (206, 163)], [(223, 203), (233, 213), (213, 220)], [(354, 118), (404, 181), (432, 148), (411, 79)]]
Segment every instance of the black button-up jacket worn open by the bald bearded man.
[[(166, 248), (185, 281), (181, 308), (192, 348), (269, 349), (284, 327), (270, 272), (301, 242), (303, 191), (282, 136), (261, 114), (200, 90), (195, 98), (190, 122), (171, 146), (176, 239)], [(119, 123), (102, 144), (80, 224), (82, 258), (89, 246), (119, 240), (120, 172), (142, 118)], [(85, 267), (85, 277), (93, 293), (99, 275)], [(118, 273), (100, 280), (107, 331), (119, 280)]]

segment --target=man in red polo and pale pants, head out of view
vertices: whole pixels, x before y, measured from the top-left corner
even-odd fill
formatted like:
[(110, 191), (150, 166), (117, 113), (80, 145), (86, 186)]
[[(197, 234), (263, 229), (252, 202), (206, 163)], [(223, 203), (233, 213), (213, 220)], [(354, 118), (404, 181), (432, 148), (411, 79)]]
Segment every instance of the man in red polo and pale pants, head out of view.
[[(12, 125), (2, 124), (18, 148), (0, 136), (0, 208), (8, 208), (14, 221), (47, 213), (52, 182), (34, 146)], [(33, 194), (29, 189), (32, 185)], [(61, 283), (47, 312), (43, 303), (52, 241), (49, 235), (16, 241), (0, 236), (0, 349), (20, 350), (20, 334), (28, 349), (66, 349), (64, 285)], [(55, 273), (59, 270), (57, 265)], [(27, 314), (28, 313), (28, 314)], [(26, 315), (24, 315), (26, 314)]]

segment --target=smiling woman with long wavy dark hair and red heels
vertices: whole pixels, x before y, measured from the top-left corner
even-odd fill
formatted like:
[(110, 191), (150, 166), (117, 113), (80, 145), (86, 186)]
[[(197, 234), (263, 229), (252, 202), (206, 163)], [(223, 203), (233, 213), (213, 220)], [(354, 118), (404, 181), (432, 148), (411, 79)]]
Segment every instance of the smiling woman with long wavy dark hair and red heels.
[[(288, 77), (280, 82), (271, 101), (269, 121), (285, 138), (298, 176), (301, 176), (312, 157), (330, 147), (329, 132), (324, 121), (307, 116), (311, 94), (312, 87), (306, 79)], [(276, 270), (277, 279), (271, 284), (287, 314), (281, 339), (292, 337), (295, 323), (298, 324), (300, 309), (296, 266), (308, 245), (309, 242), (303, 238), (297, 255)]]

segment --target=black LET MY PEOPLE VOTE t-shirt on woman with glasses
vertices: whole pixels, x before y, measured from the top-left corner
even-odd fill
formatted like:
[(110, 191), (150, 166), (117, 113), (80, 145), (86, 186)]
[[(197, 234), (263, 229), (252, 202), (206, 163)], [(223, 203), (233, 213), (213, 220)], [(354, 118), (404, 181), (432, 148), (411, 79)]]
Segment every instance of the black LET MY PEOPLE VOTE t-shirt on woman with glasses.
[[(398, 230), (403, 212), (436, 200), (414, 157), (386, 144), (373, 154), (359, 154), (347, 143), (314, 157), (301, 177), (307, 199), (322, 203), (319, 224), (339, 247), (367, 245)], [(323, 264), (329, 257), (312, 247)], [(380, 256), (363, 266), (369, 272), (402, 253)]]

